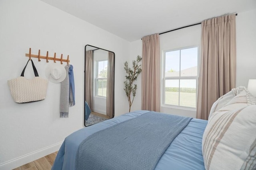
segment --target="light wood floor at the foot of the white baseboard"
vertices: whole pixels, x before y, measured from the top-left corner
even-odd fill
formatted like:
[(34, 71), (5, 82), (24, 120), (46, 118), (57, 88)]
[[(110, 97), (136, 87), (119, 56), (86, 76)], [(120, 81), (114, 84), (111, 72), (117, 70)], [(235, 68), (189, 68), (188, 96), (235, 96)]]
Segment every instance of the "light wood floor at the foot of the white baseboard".
[(57, 152), (48, 154), (42, 158), (29, 162), (13, 170), (51, 170), (53, 162), (57, 156)]

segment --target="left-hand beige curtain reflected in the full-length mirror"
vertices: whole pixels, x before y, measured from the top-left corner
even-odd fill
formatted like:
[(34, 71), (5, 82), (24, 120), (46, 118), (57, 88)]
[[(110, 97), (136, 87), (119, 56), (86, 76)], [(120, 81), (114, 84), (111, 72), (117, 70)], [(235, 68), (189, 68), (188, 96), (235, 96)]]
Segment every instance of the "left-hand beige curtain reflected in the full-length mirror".
[(89, 50), (86, 51), (86, 57), (85, 57), (85, 101), (88, 103), (88, 106), (92, 110), (92, 61), (93, 61), (93, 51)]

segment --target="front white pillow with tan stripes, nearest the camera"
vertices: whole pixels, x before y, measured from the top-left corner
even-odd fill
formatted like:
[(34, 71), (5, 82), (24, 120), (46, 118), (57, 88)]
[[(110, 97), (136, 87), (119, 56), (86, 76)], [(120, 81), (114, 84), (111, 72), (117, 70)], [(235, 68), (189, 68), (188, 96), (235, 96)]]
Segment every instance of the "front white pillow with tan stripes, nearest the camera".
[(205, 169), (255, 170), (255, 132), (255, 104), (214, 113), (202, 139)]

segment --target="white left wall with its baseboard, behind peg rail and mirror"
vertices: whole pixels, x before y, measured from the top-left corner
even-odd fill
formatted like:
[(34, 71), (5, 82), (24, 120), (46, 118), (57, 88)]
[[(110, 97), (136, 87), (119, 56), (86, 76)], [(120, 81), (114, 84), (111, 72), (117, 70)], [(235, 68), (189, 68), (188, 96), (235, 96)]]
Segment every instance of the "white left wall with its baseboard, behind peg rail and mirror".
[[(115, 115), (127, 112), (123, 92), (128, 41), (58, 10), (39, 0), (0, 1), (0, 169), (12, 169), (59, 149), (70, 133), (84, 127), (84, 47), (90, 44), (116, 54)], [(70, 56), (74, 66), (76, 106), (69, 118), (59, 118), (60, 84), (49, 82), (46, 99), (28, 104), (12, 100), (7, 80), (20, 76), (32, 54)], [(48, 64), (33, 59), (39, 76), (45, 78)], [(50, 63), (53, 61), (49, 61)], [(57, 61), (58, 62), (58, 61)], [(32, 67), (25, 72), (32, 78)]]

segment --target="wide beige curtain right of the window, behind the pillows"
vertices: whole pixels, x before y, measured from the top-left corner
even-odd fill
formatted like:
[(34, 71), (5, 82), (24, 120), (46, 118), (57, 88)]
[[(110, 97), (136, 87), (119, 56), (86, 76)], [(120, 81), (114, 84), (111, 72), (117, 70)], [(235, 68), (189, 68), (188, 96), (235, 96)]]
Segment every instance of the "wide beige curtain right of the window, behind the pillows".
[(212, 104), (236, 86), (236, 16), (202, 22), (196, 117), (208, 119)]

